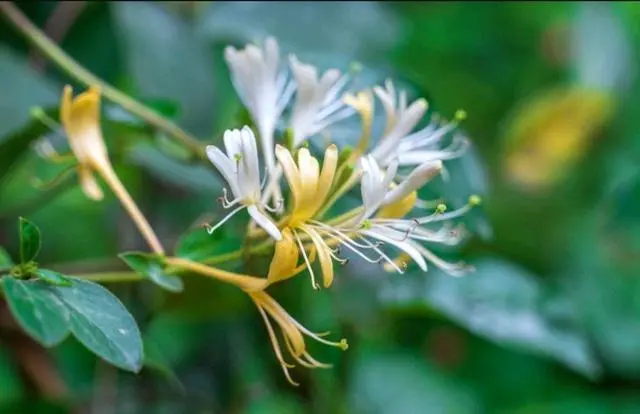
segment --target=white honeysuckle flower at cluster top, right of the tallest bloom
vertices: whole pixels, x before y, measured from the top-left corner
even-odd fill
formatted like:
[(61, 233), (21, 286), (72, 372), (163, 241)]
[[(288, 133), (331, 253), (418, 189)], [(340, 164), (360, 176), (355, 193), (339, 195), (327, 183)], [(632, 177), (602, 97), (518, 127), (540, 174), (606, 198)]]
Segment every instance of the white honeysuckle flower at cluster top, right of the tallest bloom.
[(293, 145), (298, 147), (331, 124), (353, 115), (355, 110), (343, 101), (343, 89), (349, 81), (346, 74), (329, 69), (318, 77), (317, 68), (293, 55), (289, 64), (297, 87), (290, 127)]

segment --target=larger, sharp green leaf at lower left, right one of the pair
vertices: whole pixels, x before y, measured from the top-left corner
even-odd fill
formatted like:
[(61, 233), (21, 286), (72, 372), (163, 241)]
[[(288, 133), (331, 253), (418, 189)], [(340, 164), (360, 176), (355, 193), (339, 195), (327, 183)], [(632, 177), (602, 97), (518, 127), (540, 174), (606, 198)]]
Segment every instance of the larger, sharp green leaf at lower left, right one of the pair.
[(70, 287), (52, 286), (69, 311), (71, 332), (105, 361), (128, 371), (140, 371), (142, 338), (133, 316), (102, 286), (77, 278), (72, 281)]

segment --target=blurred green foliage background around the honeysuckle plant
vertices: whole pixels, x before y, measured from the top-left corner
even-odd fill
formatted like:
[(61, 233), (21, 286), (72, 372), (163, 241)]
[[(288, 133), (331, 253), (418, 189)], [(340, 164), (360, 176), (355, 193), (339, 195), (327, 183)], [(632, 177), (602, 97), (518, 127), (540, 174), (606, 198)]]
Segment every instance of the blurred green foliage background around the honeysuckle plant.
[[(0, 304), (0, 412), (640, 412), (638, 3), (18, 5), (87, 69), (203, 141), (243, 116), (226, 45), (273, 35), (323, 70), (360, 62), (361, 87), (391, 77), (445, 117), (466, 110), (474, 146), (427, 191), (453, 205), (479, 193), (483, 205), (464, 219), (474, 236), (442, 253), (477, 267), (466, 277), (358, 263), (330, 290), (304, 277), (273, 289), (305, 326), (350, 343), (344, 353), (314, 348), (334, 368), (294, 370), (298, 388), (247, 297), (213, 281), (186, 280), (182, 294), (111, 286), (144, 334), (137, 376), (72, 339), (43, 351)], [(113, 196), (89, 201), (74, 180), (32, 185), (60, 167), (31, 143), (64, 137), (34, 132), (30, 109), (55, 107), (66, 83), (83, 86), (5, 20), (0, 38), (0, 245), (16, 251), (24, 215), (42, 229), (48, 267), (124, 268), (117, 253), (144, 245)], [(216, 211), (211, 168), (181, 160), (118, 107), (105, 104), (104, 118), (116, 168), (167, 246)], [(333, 136), (357, 137), (349, 126)], [(221, 248), (241, 231), (228, 227)]]

